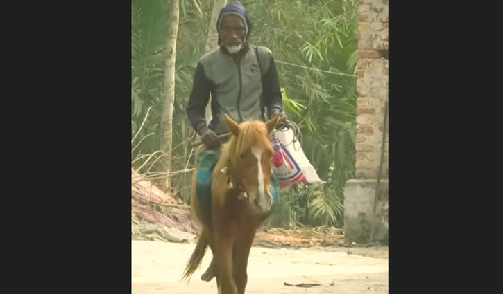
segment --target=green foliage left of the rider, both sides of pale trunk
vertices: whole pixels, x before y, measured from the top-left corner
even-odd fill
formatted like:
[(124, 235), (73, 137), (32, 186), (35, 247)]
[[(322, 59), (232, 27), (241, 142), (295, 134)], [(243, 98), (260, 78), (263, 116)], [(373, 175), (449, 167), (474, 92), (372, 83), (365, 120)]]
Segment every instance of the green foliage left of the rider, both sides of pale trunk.
[[(171, 167), (174, 174), (173, 190), (188, 200), (190, 175), (180, 170), (190, 170), (193, 158), (189, 140), (194, 139), (194, 130), (185, 113), (192, 75), (198, 58), (203, 55), (207, 24), (210, 21), (210, 1), (180, 0), (180, 24), (178, 28), (176, 57), (176, 88), (173, 110), (173, 154)], [(167, 59), (167, 31), (169, 26), (169, 1), (133, 0), (131, 2), (131, 128), (137, 133), (146, 109), (152, 107), (142, 131), (132, 145), (133, 167), (143, 166), (142, 171), (151, 178), (162, 178), (160, 140), (162, 129), (160, 117), (164, 104), (164, 69)], [(201, 28), (205, 28), (201, 30)], [(136, 142), (137, 141), (137, 142)], [(138, 144), (139, 143), (139, 144)], [(155, 154), (144, 165), (151, 154)], [(148, 172), (147, 172), (148, 170)], [(141, 172), (141, 171), (140, 171)]]

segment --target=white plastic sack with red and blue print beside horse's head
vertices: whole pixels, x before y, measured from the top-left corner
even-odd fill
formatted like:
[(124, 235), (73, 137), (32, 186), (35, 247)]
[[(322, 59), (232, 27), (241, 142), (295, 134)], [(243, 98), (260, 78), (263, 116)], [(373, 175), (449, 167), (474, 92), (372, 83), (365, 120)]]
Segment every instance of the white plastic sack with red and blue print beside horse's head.
[(280, 180), (283, 189), (294, 183), (324, 183), (306, 158), (300, 143), (294, 138), (293, 131), (275, 131), (273, 142), (273, 172)]

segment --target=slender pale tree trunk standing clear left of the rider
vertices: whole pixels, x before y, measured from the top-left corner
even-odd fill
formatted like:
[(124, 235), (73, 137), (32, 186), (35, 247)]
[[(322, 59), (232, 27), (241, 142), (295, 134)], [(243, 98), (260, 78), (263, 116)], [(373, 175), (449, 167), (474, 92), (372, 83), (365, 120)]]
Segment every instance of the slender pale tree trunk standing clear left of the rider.
[[(163, 138), (161, 149), (165, 152), (162, 163), (167, 174), (171, 170), (171, 148), (173, 144), (173, 105), (175, 102), (175, 62), (176, 62), (176, 37), (178, 35), (179, 0), (171, 0), (171, 15), (167, 38), (166, 72), (164, 73), (164, 109), (162, 110), (161, 125)], [(169, 178), (164, 182), (164, 187), (171, 187)]]

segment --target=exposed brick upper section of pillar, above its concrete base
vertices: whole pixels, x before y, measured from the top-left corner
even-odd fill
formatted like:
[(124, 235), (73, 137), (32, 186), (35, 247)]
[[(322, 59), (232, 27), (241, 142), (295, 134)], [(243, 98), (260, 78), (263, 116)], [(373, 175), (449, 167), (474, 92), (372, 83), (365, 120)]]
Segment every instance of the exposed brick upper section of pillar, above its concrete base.
[[(356, 178), (377, 178), (388, 97), (388, 1), (359, 1)], [(389, 113), (388, 113), (389, 116)], [(389, 122), (386, 122), (388, 124)], [(388, 134), (382, 178), (388, 178)]]

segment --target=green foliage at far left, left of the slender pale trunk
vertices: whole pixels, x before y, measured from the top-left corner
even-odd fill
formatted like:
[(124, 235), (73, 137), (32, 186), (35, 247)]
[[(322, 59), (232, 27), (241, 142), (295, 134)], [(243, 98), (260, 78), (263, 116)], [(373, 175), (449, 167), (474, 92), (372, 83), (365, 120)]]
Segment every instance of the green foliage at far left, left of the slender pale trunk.
[(160, 146), (168, 15), (163, 1), (131, 1), (131, 131), (132, 136), (136, 134), (146, 109), (153, 107), (139, 136), (155, 134), (144, 140), (140, 153), (151, 153)]

